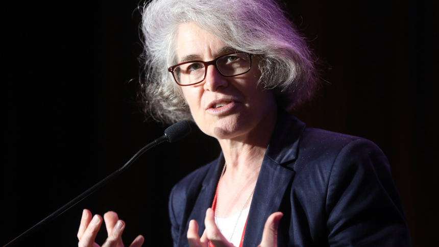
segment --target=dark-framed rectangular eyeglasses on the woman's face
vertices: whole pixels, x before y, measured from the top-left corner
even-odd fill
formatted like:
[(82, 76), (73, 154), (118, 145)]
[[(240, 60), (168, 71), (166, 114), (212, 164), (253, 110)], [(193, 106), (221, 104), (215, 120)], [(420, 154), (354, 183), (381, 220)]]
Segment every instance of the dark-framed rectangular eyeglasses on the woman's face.
[(168, 68), (175, 82), (180, 86), (191, 86), (201, 83), (206, 78), (207, 66), (213, 65), (223, 77), (235, 77), (247, 73), (252, 68), (252, 54), (229, 53), (212, 61), (188, 61)]

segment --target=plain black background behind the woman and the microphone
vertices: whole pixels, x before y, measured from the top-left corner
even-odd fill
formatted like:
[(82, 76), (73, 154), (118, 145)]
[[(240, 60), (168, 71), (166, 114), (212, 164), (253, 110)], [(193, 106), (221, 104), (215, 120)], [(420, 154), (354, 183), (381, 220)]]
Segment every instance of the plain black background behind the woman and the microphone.
[[(135, 104), (142, 50), (136, 1), (16, 2), (2, 10), (1, 245), (122, 166), (164, 128), (145, 121)], [(437, 1), (285, 7), (326, 64), (319, 96), (296, 115), (308, 127), (377, 143), (391, 163), (413, 245), (436, 245)], [(138, 234), (144, 246), (171, 246), (170, 189), (220, 151), (193, 129), (143, 155), (19, 246), (77, 246), (83, 208), (118, 212), (127, 246)]]

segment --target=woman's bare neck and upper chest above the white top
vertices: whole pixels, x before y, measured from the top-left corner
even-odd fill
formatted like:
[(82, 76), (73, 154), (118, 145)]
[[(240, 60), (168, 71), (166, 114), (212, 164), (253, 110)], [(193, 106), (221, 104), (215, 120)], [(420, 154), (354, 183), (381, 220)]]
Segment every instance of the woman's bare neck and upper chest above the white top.
[[(217, 217), (229, 217), (250, 207), (252, 191), (269, 145), (277, 119), (273, 110), (250, 133), (231, 139), (219, 139), (226, 160), (226, 171), (218, 183)], [(249, 197), (250, 196), (250, 197)]]

